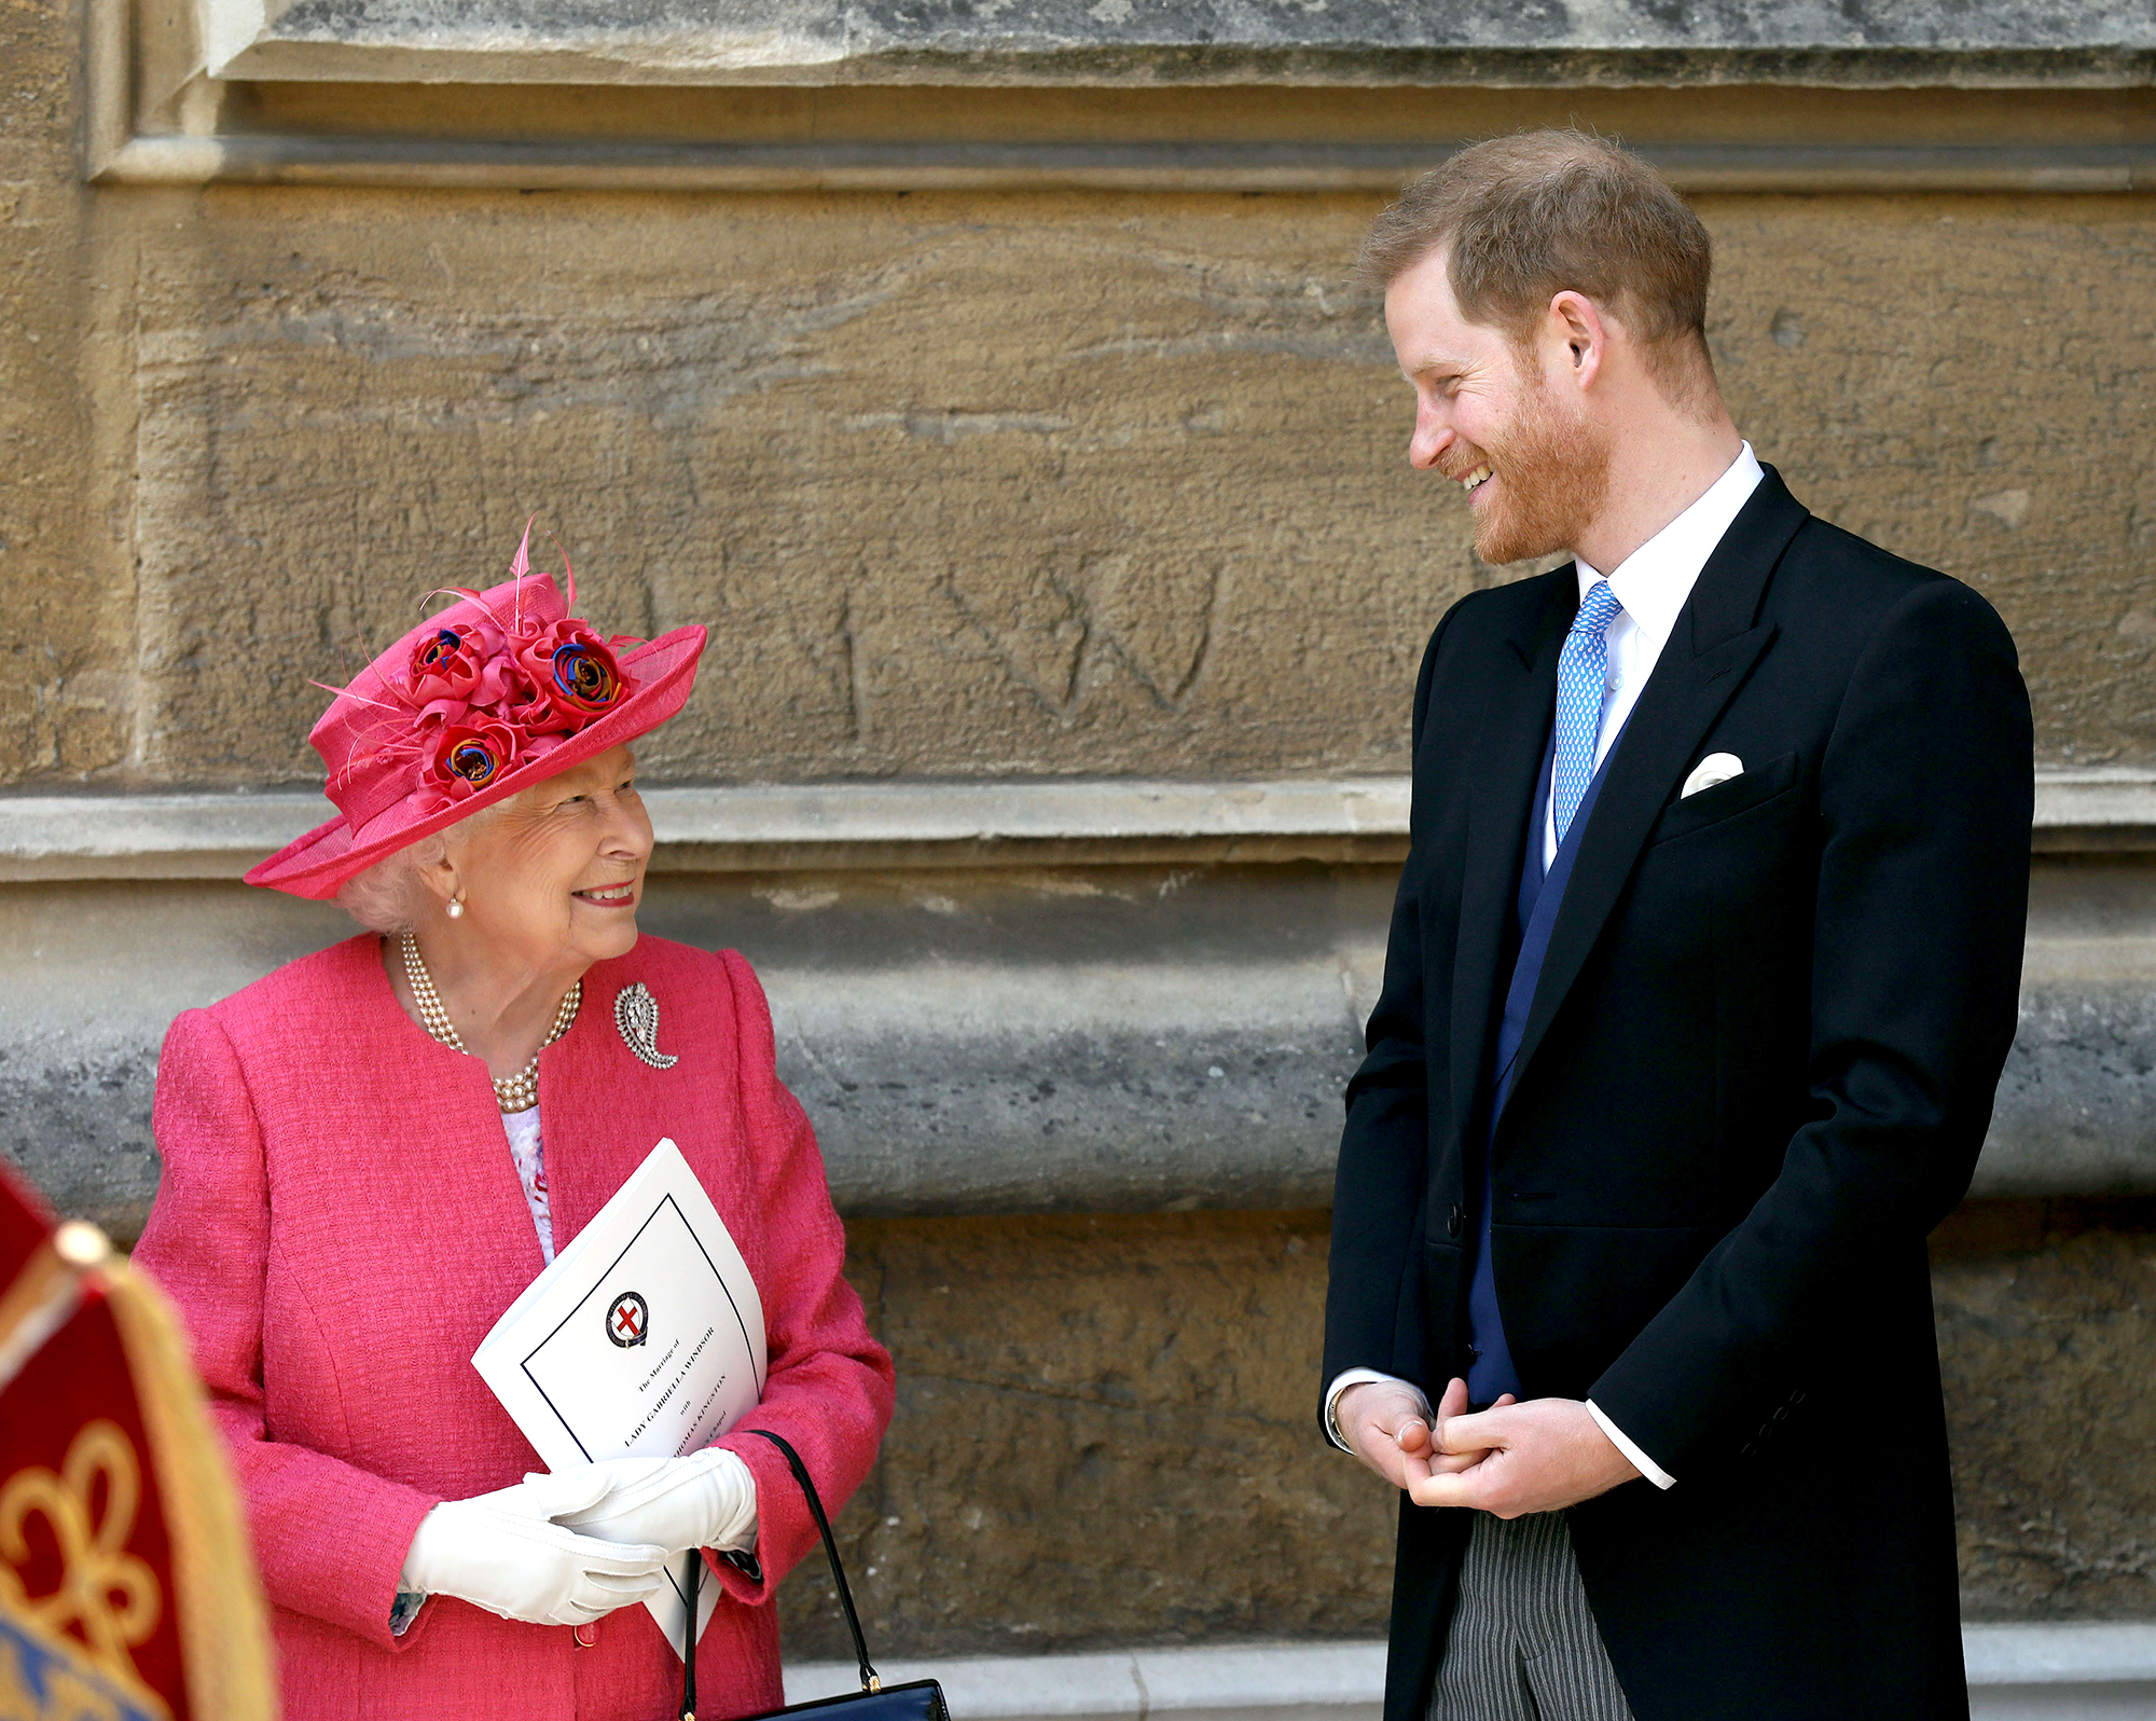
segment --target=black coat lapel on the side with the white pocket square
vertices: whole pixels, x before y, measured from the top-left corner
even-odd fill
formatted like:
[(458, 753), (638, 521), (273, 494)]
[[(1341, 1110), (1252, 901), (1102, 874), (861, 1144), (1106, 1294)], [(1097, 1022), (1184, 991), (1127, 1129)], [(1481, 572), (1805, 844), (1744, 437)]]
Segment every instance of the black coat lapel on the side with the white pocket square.
[(1514, 1091), (1526, 1080), (1535, 1048), (1587, 964), (1602, 925), (1623, 895), (1626, 880), (1632, 878), (1632, 865), (1647, 845), (1647, 832), (1671, 791), (1684, 781), (1695, 748), (1774, 638), (1772, 623), (1755, 623), (1759, 600), (1781, 552), (1807, 518), (1781, 474), (1768, 466), (1759, 487), (1699, 572), (1669, 645), (1662, 647), (1654, 675), (1641, 688), (1623, 740), (1611, 755), (1608, 776), (1587, 830), (1580, 832), (1572, 882), (1557, 910), (1535, 1003), (1520, 1037)]

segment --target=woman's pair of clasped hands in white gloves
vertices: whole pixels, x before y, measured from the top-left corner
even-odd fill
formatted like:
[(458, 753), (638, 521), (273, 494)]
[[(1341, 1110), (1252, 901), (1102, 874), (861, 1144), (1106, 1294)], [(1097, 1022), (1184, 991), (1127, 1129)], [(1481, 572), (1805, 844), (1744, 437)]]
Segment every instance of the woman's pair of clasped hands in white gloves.
[(688, 1548), (748, 1548), (757, 1486), (733, 1451), (610, 1458), (442, 1501), (412, 1538), (401, 1587), (505, 1620), (580, 1626), (640, 1602)]

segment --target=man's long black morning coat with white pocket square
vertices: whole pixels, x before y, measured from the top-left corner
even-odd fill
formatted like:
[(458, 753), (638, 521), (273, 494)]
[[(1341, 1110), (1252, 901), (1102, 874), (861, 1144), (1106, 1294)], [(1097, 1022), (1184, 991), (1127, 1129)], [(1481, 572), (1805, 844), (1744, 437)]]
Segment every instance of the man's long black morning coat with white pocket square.
[[(1348, 1087), (1324, 1380), (1466, 1374), (1485, 1057), (1578, 608), (1464, 597)], [(1680, 798), (1710, 753), (1744, 772)], [(1498, 1119), (1492, 1257), (1531, 1398), (1669, 1471), (1572, 1510), (1639, 1721), (1968, 1715), (1925, 1234), (2014, 1037), (2029, 694), (1975, 591), (1768, 468), (1611, 755)], [(1419, 1721), (1468, 1514), (1401, 1497), (1386, 1721)]]

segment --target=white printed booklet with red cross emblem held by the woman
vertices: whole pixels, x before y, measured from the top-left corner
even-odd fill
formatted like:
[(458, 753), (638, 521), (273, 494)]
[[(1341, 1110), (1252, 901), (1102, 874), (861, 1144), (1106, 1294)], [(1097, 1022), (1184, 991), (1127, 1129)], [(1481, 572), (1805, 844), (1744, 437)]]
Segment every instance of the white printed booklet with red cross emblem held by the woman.
[[(671, 1139), (494, 1322), (472, 1367), (550, 1471), (681, 1458), (763, 1398), (763, 1298)], [(699, 1602), (703, 1637), (718, 1585)], [(679, 1654), (681, 1572), (645, 1607)]]

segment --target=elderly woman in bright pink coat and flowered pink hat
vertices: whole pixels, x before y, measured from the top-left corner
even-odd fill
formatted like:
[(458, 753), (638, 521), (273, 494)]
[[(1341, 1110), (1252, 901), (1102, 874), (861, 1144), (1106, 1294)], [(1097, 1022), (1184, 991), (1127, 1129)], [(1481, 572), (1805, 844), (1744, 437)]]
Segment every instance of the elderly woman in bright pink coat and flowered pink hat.
[[(164, 1184), (136, 1259), (188, 1318), (248, 1501), (289, 1721), (673, 1715), (638, 1607), (701, 1551), (701, 1712), (776, 1708), (772, 1585), (890, 1419), (890, 1359), (748, 964), (638, 938), (630, 742), (703, 628), (606, 641), (526, 572), (464, 593), (310, 735), (338, 817), (248, 880), (367, 932), (190, 1009), (157, 1068)], [(671, 1137), (765, 1311), (755, 1410), (681, 1458), (558, 1475), (472, 1352)]]

